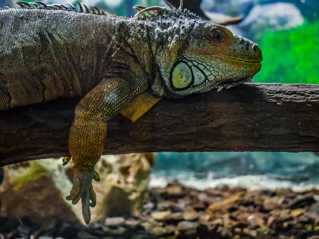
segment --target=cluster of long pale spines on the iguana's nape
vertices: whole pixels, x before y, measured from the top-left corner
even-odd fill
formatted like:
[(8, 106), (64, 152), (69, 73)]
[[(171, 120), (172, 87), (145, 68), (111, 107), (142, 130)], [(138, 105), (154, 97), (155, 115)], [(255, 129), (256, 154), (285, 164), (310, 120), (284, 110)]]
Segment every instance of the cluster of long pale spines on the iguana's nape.
[[(166, 7), (160, 7), (160, 6), (153, 6), (153, 7), (143, 7), (143, 6), (134, 6), (133, 8), (136, 9), (138, 12), (134, 15), (134, 17), (137, 17), (137, 20), (140, 19), (140, 15), (142, 15), (143, 19), (148, 19), (149, 17), (155, 16), (175, 16), (175, 17), (188, 17), (192, 19), (199, 18), (195, 13), (192, 13), (191, 11), (184, 9), (183, 10), (183, 0), (181, 0), (180, 7), (176, 9), (172, 4), (170, 4), (167, 0), (164, 0), (164, 2), (167, 4), (167, 6), (170, 8), (170, 10), (167, 10)], [(148, 13), (149, 16), (147, 16), (145, 13)]]

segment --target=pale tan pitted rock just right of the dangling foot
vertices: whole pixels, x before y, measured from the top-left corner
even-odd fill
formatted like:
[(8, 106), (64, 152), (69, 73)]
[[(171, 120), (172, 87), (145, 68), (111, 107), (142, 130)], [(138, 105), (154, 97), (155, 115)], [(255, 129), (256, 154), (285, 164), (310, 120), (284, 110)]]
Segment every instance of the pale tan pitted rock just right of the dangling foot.
[(150, 163), (144, 154), (101, 156), (95, 170), (100, 182), (93, 181), (97, 202), (91, 220), (139, 215), (150, 180)]

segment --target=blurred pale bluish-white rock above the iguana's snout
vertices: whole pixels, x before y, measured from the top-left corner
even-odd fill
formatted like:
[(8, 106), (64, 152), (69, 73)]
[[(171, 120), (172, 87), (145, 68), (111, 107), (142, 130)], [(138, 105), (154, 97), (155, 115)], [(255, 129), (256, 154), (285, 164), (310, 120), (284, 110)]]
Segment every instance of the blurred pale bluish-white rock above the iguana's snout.
[(268, 30), (280, 31), (302, 25), (304, 18), (292, 3), (255, 5), (238, 28), (244, 37), (259, 42)]

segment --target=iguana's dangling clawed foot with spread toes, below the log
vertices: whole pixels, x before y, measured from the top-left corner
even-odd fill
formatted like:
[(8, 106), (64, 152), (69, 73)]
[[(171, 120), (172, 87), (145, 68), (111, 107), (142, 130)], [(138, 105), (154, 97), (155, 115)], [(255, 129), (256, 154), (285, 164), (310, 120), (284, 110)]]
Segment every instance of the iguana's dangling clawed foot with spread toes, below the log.
[[(81, 199), (82, 201), (82, 214), (86, 224), (91, 220), (90, 206), (96, 205), (96, 194), (93, 190), (92, 180), (100, 181), (99, 174), (96, 171), (83, 170), (76, 166), (74, 169), (73, 186), (69, 196), (66, 200), (72, 200), (72, 204), (77, 204)], [(90, 203), (91, 200), (91, 203)]]

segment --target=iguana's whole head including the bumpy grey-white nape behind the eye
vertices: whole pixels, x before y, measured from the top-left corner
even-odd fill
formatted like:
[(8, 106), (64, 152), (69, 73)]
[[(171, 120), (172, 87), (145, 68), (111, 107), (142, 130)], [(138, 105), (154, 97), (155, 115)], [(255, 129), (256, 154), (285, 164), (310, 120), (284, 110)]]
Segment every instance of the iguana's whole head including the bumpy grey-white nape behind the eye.
[[(221, 90), (250, 81), (263, 60), (256, 43), (185, 10), (151, 14), (150, 38), (167, 97)], [(153, 51), (153, 52), (154, 52)]]

